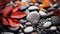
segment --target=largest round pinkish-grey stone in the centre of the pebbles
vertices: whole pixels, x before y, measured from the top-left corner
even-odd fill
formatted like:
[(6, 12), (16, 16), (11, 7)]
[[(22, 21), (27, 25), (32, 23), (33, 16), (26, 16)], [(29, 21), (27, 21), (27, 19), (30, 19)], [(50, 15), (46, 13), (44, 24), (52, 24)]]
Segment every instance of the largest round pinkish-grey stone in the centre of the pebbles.
[(31, 13), (29, 13), (28, 15), (27, 15), (27, 17), (26, 17), (26, 19), (28, 20), (28, 21), (30, 21), (30, 22), (33, 22), (33, 21), (35, 21), (35, 20), (39, 20), (39, 18), (40, 18), (40, 15), (39, 15), (39, 13), (37, 13), (37, 12), (31, 12)]

